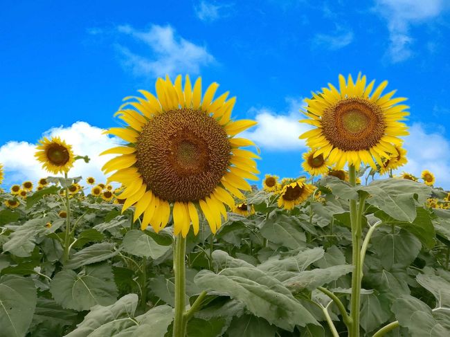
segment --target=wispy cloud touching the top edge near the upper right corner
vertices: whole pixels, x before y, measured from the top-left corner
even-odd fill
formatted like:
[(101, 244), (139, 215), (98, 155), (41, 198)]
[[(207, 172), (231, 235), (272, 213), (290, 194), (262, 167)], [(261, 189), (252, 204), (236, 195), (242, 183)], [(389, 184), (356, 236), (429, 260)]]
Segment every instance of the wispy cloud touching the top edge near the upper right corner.
[(388, 21), (388, 55), (394, 63), (413, 55), (414, 39), (409, 33), (410, 26), (438, 17), (444, 10), (443, 0), (377, 0), (376, 3), (375, 9)]

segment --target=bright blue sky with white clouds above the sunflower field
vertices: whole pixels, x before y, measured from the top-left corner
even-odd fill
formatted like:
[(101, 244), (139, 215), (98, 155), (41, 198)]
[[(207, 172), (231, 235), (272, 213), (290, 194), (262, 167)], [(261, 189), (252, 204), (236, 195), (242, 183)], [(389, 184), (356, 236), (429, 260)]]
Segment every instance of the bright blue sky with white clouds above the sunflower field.
[[(426, 3), (426, 4), (424, 4)], [(6, 185), (44, 174), (33, 144), (60, 134), (94, 156), (123, 97), (190, 73), (237, 96), (262, 173), (300, 174), (298, 109), (358, 71), (408, 97), (415, 174), (450, 188), (450, 1), (8, 1), (0, 12), (0, 163)], [(75, 124), (74, 124), (75, 123)], [(80, 136), (80, 134), (82, 136)], [(100, 160), (75, 173), (99, 176)]]

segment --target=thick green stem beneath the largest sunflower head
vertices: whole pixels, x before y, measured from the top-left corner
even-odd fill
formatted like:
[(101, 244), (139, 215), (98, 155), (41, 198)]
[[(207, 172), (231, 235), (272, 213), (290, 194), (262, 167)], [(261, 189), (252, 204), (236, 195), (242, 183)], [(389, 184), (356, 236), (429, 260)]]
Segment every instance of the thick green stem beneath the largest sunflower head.
[(187, 321), (184, 319), (186, 298), (186, 238), (181, 234), (175, 240), (174, 274), (175, 274), (175, 313), (173, 337), (185, 337)]

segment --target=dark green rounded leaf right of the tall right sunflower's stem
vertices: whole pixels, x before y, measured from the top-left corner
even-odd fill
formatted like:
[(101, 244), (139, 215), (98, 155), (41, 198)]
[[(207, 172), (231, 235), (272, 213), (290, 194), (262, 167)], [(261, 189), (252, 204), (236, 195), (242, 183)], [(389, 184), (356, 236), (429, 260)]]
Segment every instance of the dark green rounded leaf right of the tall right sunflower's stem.
[(372, 237), (372, 244), (381, 266), (388, 271), (409, 266), (422, 248), (419, 239), (406, 230), (395, 234), (378, 232)]

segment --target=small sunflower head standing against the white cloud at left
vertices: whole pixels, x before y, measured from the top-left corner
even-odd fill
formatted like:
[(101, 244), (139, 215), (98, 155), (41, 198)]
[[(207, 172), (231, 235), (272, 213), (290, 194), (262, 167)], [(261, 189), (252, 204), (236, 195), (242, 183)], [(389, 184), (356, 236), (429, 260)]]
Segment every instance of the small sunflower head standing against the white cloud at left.
[(72, 146), (67, 145), (60, 137), (44, 137), (39, 140), (36, 149), (35, 157), (43, 164), (42, 167), (54, 174), (68, 172), (75, 161)]

